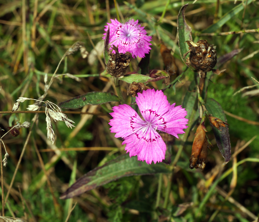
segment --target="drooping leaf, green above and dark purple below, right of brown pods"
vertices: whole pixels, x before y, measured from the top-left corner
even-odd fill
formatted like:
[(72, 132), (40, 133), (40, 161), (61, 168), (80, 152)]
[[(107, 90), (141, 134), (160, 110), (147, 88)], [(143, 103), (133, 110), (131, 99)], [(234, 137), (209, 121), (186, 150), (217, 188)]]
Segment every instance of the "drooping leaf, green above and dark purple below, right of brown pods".
[[(225, 113), (221, 108), (221, 105), (217, 101), (215, 101), (212, 98), (208, 98), (205, 106), (209, 114), (227, 123), (227, 118), (225, 116)], [(219, 147), (219, 151), (221, 155), (225, 158), (225, 163), (227, 163), (231, 157), (231, 145), (230, 145), (228, 126), (226, 125), (226, 127), (220, 127), (221, 131), (218, 130), (212, 124), (211, 124), (211, 127), (213, 129), (213, 133), (214, 133), (217, 145)]]

